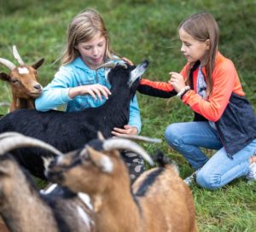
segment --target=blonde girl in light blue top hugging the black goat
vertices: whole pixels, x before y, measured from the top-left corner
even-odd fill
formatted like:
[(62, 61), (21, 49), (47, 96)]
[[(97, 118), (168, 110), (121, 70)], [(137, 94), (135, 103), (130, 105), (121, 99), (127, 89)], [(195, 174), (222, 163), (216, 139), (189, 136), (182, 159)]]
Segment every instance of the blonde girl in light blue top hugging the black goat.
[[(35, 102), (39, 111), (48, 111), (65, 104), (67, 112), (99, 107), (111, 95), (110, 84), (103, 68), (96, 67), (113, 58), (108, 31), (102, 16), (95, 9), (76, 15), (67, 30), (67, 46), (61, 57), (61, 67)], [(130, 104), (130, 119), (124, 128), (113, 128), (113, 136), (137, 134), (141, 131), (140, 110), (135, 96)], [(124, 155), (130, 165), (131, 177), (144, 169), (143, 160)], [(129, 160), (128, 160), (129, 159)]]

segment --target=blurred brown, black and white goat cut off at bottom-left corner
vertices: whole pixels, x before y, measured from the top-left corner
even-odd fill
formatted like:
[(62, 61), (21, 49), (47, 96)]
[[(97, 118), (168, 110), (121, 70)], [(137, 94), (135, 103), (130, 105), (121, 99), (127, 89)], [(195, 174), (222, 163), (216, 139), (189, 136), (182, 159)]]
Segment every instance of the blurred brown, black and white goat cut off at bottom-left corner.
[(95, 231), (88, 196), (73, 194), (57, 184), (51, 184), (45, 191), (38, 192), (29, 173), (20, 168), (8, 154), (11, 149), (26, 146), (49, 149), (56, 155), (61, 153), (44, 142), (26, 136), (1, 136), (5, 136), (0, 141), (1, 231)]

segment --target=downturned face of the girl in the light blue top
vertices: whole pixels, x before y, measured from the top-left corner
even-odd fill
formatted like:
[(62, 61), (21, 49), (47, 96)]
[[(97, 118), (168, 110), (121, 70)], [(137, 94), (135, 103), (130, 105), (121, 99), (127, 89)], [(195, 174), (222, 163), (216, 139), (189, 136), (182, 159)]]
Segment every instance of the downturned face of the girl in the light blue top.
[(102, 65), (104, 62), (105, 51), (106, 51), (106, 38), (101, 33), (97, 33), (96, 36), (87, 42), (81, 42), (75, 49), (79, 50), (79, 54), (82, 57), (84, 63), (95, 69)]

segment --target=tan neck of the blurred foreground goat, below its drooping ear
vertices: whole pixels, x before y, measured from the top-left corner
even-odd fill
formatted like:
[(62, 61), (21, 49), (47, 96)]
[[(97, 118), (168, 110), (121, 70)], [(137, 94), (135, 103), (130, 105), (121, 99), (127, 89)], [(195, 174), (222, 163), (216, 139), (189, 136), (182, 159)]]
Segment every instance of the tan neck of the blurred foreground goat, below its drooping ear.
[(96, 212), (96, 231), (118, 232), (121, 229), (124, 232), (139, 232), (141, 209), (131, 193), (127, 168), (124, 163), (115, 163), (115, 165), (119, 167), (111, 176), (114, 181), (109, 183), (102, 194), (91, 195)]

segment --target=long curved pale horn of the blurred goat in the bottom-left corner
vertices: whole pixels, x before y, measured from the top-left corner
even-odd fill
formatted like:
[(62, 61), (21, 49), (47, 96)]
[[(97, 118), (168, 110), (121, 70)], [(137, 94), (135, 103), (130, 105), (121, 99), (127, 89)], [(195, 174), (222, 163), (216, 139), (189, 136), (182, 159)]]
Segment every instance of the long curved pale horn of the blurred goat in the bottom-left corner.
[(56, 155), (63, 155), (59, 150), (46, 142), (28, 136), (11, 136), (0, 141), (0, 155), (3, 155), (16, 148), (43, 148)]

